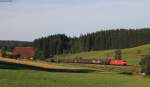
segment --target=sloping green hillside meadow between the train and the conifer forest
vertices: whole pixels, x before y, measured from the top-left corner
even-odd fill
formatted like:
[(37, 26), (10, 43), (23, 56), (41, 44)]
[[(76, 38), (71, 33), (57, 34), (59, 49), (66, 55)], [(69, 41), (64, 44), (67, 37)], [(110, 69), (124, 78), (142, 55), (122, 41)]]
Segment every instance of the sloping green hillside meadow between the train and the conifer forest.
[[(141, 53), (138, 53), (138, 51)], [(91, 52), (81, 52), (75, 54), (63, 54), (56, 56), (58, 58), (100, 58), (100, 57), (114, 57), (115, 50), (105, 50), (105, 51), (91, 51)], [(128, 64), (139, 64), (142, 55), (150, 54), (150, 45), (143, 45), (135, 48), (122, 49), (123, 58), (127, 60)]]

